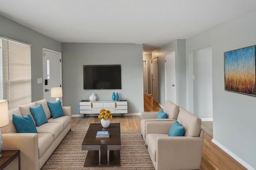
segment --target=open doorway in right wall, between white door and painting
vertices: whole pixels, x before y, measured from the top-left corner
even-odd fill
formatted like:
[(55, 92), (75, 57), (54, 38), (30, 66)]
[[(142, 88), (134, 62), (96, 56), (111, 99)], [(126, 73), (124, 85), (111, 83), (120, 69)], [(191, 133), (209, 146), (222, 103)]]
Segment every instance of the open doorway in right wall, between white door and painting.
[(212, 47), (193, 51), (193, 107), (196, 116), (212, 119)]

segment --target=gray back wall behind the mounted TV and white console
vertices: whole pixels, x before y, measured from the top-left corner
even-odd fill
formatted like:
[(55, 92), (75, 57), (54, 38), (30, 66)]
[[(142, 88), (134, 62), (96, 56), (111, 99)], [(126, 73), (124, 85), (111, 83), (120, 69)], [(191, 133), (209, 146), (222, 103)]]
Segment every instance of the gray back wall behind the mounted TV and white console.
[[(121, 64), (122, 89), (84, 90), (83, 65)], [(143, 103), (142, 45), (112, 43), (62, 43), (63, 104), (78, 114), (80, 100), (89, 100), (94, 92), (97, 100), (112, 100), (118, 92), (120, 100), (128, 101), (128, 113), (140, 113)]]

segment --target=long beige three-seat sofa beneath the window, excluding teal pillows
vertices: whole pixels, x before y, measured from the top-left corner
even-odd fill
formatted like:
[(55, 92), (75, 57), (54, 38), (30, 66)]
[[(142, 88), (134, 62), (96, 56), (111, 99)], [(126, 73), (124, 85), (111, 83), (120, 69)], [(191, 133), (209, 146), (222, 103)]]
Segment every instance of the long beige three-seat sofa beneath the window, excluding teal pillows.
[[(42, 104), (48, 123), (36, 127), (38, 133), (17, 133), (12, 115), (25, 116), (30, 113), (33, 119), (29, 107), (39, 104)], [(53, 119), (44, 99), (9, 110), (9, 125), (1, 128), (3, 150), (20, 150), (20, 170), (40, 170), (71, 130), (71, 107), (66, 106), (62, 109), (64, 116)]]

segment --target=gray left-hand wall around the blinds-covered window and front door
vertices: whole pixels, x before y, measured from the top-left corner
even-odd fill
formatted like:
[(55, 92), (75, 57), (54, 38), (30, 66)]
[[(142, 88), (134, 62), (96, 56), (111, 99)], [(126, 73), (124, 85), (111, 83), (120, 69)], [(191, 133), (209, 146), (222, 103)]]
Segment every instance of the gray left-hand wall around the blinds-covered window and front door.
[(47, 48), (61, 52), (61, 43), (3, 16), (0, 16), (0, 36), (32, 45), (32, 102), (43, 99), (43, 84), (37, 84), (37, 78), (43, 78), (42, 51)]

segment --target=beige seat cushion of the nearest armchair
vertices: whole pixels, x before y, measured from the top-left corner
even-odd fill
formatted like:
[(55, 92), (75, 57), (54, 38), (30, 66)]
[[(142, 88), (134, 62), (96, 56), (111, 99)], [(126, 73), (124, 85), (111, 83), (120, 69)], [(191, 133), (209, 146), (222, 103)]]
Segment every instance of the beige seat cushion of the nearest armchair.
[(148, 134), (147, 135), (148, 151), (151, 153), (152, 159), (155, 162), (156, 162), (156, 147), (157, 147), (156, 137), (168, 137), (168, 135), (167, 134)]

